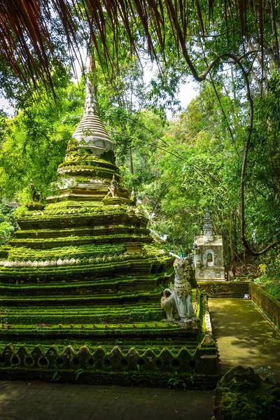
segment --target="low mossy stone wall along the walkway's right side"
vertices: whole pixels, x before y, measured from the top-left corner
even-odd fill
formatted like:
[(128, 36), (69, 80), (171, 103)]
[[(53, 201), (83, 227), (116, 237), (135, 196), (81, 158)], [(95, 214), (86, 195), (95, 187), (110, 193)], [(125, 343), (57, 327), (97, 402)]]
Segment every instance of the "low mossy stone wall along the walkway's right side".
[(265, 292), (262, 287), (250, 283), (251, 300), (260, 307), (263, 313), (276, 325), (280, 327), (280, 302)]

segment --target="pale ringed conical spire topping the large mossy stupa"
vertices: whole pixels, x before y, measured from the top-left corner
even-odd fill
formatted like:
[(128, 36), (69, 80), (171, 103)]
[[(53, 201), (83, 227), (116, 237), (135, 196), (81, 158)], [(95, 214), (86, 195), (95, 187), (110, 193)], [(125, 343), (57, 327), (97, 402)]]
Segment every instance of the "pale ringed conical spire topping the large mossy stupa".
[(83, 118), (73, 132), (72, 137), (83, 148), (91, 149), (94, 154), (100, 155), (104, 151), (113, 151), (113, 144), (99, 118), (97, 87), (93, 80), (94, 71), (94, 60), (90, 57), (88, 76), (85, 83), (86, 97)]

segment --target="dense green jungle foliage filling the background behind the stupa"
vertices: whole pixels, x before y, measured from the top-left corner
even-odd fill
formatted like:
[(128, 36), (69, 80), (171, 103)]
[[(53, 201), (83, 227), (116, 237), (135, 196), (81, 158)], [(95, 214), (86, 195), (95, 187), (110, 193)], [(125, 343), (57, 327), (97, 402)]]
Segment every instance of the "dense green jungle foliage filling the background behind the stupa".
[[(38, 3), (45, 10), (45, 2)], [(240, 4), (214, 1), (209, 10), (208, 1), (200, 1), (172, 15), (172, 5), (180, 8), (182, 2), (163, 1), (158, 7), (165, 25), (157, 29), (147, 2), (147, 28), (139, 10), (127, 15), (131, 25), (136, 19), (134, 36), (123, 18), (117, 36), (104, 8), (99, 10), (104, 40), (101, 29), (93, 33), (87, 26), (89, 10), (80, 3), (72, 10), (71, 45), (80, 43), (94, 54), (100, 116), (114, 141), (123, 182), (136, 191), (151, 228), (167, 235), (170, 250), (190, 253), (208, 207), (215, 231), (223, 235), (226, 268), (237, 278), (268, 281), (269, 290), (280, 294), (279, 7), (267, 1), (260, 13), (256, 2), (245, 1), (242, 12)], [(31, 200), (30, 179), (45, 200), (83, 115), (85, 82), (73, 81), (71, 32), (56, 11), (54, 6), (54, 13), (42, 12), (52, 45), (45, 46), (48, 69), (31, 48), (34, 62), (25, 64), (30, 72), (22, 64), (18, 69), (25, 74), (22, 83), (13, 63), (0, 59), (1, 92), (16, 109), (14, 116), (0, 114), (2, 243), (17, 228), (9, 206)], [(149, 60), (154, 73), (146, 84)], [(197, 97), (181, 109), (177, 92), (190, 76), (200, 82)]]

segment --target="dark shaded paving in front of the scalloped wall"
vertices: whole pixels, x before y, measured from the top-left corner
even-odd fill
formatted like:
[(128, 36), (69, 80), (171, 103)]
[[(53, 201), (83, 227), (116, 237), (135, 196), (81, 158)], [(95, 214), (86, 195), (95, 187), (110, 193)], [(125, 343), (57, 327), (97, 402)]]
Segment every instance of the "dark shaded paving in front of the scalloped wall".
[(210, 420), (212, 391), (0, 381), (0, 420)]

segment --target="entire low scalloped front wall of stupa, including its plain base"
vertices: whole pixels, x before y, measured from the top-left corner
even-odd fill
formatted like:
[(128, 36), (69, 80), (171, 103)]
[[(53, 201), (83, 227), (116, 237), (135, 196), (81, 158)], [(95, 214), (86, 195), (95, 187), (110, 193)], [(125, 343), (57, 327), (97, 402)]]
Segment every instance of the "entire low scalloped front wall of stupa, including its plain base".
[(8, 344), (0, 352), (2, 379), (42, 379), (85, 383), (141, 384), (146, 386), (179, 386), (213, 389), (218, 381), (217, 346), (208, 335), (194, 352), (182, 347), (172, 353), (166, 347), (160, 354), (147, 349), (144, 354), (134, 347), (123, 353), (119, 346), (110, 352), (99, 346), (93, 353), (87, 346), (75, 351), (55, 345), (44, 351), (38, 344), (31, 351), (27, 345), (18, 350)]

